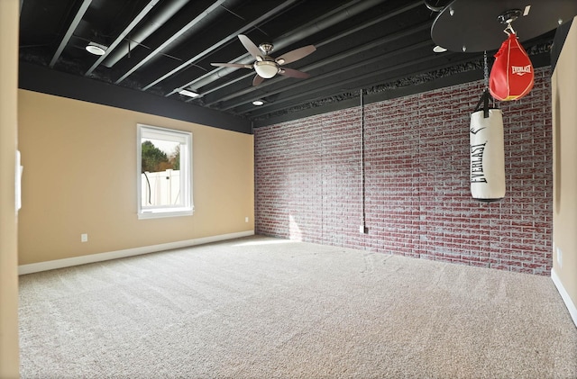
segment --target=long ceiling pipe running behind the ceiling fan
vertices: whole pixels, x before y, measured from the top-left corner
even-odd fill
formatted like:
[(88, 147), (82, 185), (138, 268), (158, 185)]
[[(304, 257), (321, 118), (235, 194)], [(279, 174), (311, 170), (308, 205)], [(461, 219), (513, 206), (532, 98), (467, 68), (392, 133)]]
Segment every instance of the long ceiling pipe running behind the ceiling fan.
[[(336, 23), (341, 23), (344, 20), (351, 18), (356, 14), (360, 14), (375, 5), (380, 5), (381, 3), (384, 3), (384, 0), (362, 0), (355, 5), (343, 9), (333, 16), (325, 17), (324, 19), (321, 19), (315, 23), (304, 25), (298, 30), (290, 32), (288, 37), (281, 37), (278, 41), (274, 41), (275, 50), (283, 49), (289, 46), (291, 43), (301, 41), (316, 32), (320, 32), (330, 26), (333, 26)], [(248, 55), (245, 59), (239, 61), (238, 63), (250, 64), (253, 60), (254, 59), (252, 59), (252, 56)], [(197, 80), (190, 82), (188, 86), (202, 88), (203, 86), (206, 86), (220, 79), (221, 77), (230, 74), (236, 69), (237, 68), (217, 68), (205, 76), (199, 77)]]

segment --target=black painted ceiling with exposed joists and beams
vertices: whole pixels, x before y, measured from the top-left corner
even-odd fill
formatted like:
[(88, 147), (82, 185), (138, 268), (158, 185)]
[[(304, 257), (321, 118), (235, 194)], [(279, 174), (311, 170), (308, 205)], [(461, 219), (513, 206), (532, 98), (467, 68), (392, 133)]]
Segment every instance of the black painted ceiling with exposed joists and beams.
[[(20, 61), (21, 66), (67, 73), (86, 83), (104, 82), (111, 85), (106, 86), (109, 91), (129, 88), (261, 125), (356, 102), (361, 89), (367, 95), (391, 97), (395, 91), (418, 92), (426, 83), (441, 86), (444, 81), (482, 78), (482, 53), (433, 51), (431, 26), (438, 13), (426, 5), (449, 3), (23, 0)], [(310, 77), (277, 75), (252, 86), (252, 69), (211, 66), (252, 63), (238, 34), (256, 45), (271, 42), (275, 58), (315, 45), (315, 52), (286, 65)], [(536, 67), (548, 64), (553, 36), (554, 31), (546, 32), (523, 43)], [(502, 37), (504, 41), (507, 36)], [(105, 55), (88, 53), (90, 41), (107, 47)], [(490, 57), (494, 52), (489, 51)], [(179, 95), (180, 89), (200, 96)], [(255, 106), (256, 99), (265, 103)]]

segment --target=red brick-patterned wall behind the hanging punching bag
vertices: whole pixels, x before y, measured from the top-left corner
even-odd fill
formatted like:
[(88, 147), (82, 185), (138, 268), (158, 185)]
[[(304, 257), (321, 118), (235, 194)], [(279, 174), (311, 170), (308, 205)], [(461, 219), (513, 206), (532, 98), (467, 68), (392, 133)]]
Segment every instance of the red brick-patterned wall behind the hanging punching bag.
[(256, 233), (549, 275), (549, 68), (536, 70), (525, 98), (498, 104), (507, 176), (498, 203), (470, 192), (469, 119), (481, 92), (475, 82), (366, 104), (364, 154), (360, 107), (256, 129)]

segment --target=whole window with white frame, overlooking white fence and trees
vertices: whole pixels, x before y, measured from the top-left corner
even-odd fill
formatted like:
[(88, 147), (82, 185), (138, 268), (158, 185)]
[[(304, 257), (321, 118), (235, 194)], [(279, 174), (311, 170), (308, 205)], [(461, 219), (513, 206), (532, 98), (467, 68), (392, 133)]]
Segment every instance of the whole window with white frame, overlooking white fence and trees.
[(192, 133), (137, 126), (138, 218), (191, 215)]

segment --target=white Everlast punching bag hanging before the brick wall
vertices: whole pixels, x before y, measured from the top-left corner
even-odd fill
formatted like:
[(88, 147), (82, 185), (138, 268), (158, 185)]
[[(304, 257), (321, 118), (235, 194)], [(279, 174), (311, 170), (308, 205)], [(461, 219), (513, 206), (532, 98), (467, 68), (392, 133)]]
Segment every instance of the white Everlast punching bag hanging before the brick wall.
[[(481, 102), (484, 101), (480, 109)], [(481, 202), (496, 202), (505, 197), (505, 143), (503, 114), (489, 108), (489, 93), (483, 93), (471, 114), (471, 194)]]

